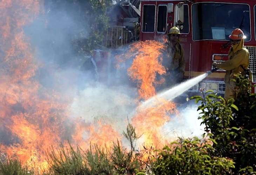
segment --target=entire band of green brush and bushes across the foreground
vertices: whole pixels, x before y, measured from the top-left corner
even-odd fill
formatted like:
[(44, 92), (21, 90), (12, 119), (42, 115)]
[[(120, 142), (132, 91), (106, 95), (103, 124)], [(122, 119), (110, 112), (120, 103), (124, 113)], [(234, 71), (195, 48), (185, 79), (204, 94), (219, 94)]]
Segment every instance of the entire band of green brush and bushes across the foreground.
[[(130, 143), (125, 148), (117, 140), (113, 147), (91, 145), (47, 150), (48, 169), (42, 174), (62, 175), (139, 175), (139, 174), (256, 174), (256, 94), (251, 83), (236, 76), (235, 98), (224, 100), (213, 91), (194, 96), (201, 102), (199, 119), (205, 125), (204, 139), (179, 138), (162, 149), (137, 150), (135, 128), (128, 124), (123, 135)], [(0, 161), (1, 175), (36, 174), (22, 167), (17, 159)]]

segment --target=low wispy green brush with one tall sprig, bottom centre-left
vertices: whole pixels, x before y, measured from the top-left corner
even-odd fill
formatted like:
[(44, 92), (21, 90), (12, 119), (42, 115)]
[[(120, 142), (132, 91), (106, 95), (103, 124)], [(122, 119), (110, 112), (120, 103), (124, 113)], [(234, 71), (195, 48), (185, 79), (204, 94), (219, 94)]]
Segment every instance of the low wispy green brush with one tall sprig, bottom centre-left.
[(130, 142), (130, 151), (127, 151), (118, 140), (111, 150), (94, 145), (85, 152), (77, 146), (75, 151), (70, 144), (69, 149), (65, 149), (61, 144), (60, 150), (56, 153), (51, 148), (47, 151), (49, 174), (144, 174), (146, 170), (143, 168), (146, 165), (149, 167), (150, 163), (140, 161), (139, 158), (144, 155), (135, 150), (138, 139), (135, 128), (129, 124), (123, 134)]

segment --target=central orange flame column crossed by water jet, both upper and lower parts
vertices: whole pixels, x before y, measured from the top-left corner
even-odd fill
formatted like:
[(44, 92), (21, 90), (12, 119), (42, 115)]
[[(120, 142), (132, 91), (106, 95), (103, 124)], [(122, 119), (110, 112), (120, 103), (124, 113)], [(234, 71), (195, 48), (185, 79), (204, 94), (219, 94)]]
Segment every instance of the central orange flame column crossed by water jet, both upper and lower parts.
[[(139, 98), (149, 99), (156, 95), (155, 85), (163, 83), (156, 80), (156, 74), (163, 75), (166, 69), (162, 65), (162, 51), (165, 45), (157, 41), (140, 41), (133, 43), (127, 54), (117, 57), (117, 62), (125, 62), (133, 58), (132, 66), (128, 69), (128, 75), (138, 83)], [(166, 99), (159, 99), (161, 103), (156, 107), (148, 107), (136, 110), (132, 118), (133, 125), (139, 135), (142, 135), (144, 146), (161, 147), (166, 142), (160, 134), (162, 126), (170, 120), (170, 114), (177, 114), (176, 104)], [(160, 105), (161, 104), (161, 105)]]

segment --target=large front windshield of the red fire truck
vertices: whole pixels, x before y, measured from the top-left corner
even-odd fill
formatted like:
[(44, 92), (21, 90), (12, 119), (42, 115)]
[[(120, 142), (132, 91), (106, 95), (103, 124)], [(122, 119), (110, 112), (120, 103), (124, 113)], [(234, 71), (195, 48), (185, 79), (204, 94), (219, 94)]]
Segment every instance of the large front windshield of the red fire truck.
[(193, 40), (229, 40), (235, 28), (249, 41), (250, 7), (247, 4), (203, 2), (192, 5)]

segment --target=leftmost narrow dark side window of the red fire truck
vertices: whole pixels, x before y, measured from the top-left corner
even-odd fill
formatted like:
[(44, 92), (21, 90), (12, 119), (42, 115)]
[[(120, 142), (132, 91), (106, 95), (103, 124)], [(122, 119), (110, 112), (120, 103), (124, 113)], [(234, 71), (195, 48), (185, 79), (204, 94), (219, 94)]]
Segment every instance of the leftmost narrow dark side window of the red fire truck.
[(143, 5), (142, 31), (155, 31), (155, 5)]

